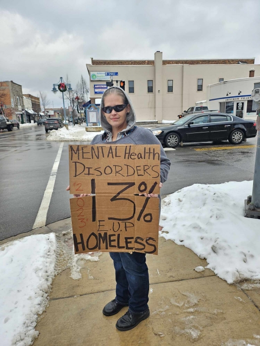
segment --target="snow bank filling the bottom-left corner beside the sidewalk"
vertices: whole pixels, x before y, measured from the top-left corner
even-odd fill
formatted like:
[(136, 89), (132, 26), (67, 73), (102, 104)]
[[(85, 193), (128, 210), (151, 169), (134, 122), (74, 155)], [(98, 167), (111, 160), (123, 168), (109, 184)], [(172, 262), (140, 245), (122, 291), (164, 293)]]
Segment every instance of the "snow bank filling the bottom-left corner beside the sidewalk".
[(55, 235), (39, 234), (0, 247), (1, 346), (31, 345), (54, 277)]

